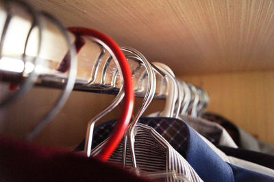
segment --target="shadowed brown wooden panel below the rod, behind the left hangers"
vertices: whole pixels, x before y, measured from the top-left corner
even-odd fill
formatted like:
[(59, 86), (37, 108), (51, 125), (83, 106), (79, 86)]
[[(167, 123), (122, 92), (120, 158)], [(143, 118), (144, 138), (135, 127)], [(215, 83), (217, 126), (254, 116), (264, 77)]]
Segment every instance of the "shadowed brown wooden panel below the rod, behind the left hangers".
[[(0, 133), (23, 138), (52, 107), (60, 90), (33, 88), (22, 99), (0, 112)], [(113, 95), (90, 92), (73, 92), (64, 107), (42, 130), (34, 142), (48, 146), (75, 148), (86, 136), (88, 121), (101, 112), (114, 99)], [(134, 114), (142, 99), (136, 98)], [(164, 100), (153, 100), (144, 116), (158, 112), (164, 107)], [(121, 107), (116, 107), (99, 122), (119, 117)]]

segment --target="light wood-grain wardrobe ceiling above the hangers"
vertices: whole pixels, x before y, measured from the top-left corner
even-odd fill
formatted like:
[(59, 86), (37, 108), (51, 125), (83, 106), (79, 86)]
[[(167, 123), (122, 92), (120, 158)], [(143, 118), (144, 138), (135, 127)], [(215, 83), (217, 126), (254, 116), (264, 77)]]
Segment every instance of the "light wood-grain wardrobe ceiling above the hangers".
[(274, 1), (32, 0), (66, 26), (97, 29), (177, 75), (274, 70)]

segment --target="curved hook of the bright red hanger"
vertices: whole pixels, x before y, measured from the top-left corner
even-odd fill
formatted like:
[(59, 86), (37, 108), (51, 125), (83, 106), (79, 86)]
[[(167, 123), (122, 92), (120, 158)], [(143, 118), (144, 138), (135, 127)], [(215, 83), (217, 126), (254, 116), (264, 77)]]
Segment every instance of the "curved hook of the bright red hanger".
[[(125, 97), (123, 100), (122, 112), (120, 114), (119, 120), (114, 127), (112, 133), (110, 134), (110, 138), (108, 142), (105, 144), (103, 149), (100, 153), (96, 156), (97, 158), (101, 159), (102, 161), (108, 160), (112, 152), (115, 150), (116, 146), (122, 140), (125, 131), (129, 125), (129, 122), (132, 118), (132, 112), (134, 108), (134, 88), (133, 88), (133, 81), (132, 81), (132, 71), (130, 70), (129, 64), (123, 51), (119, 48), (119, 46), (99, 31), (88, 29), (84, 27), (69, 27), (69, 31), (71, 31), (75, 36), (90, 36), (99, 40), (103, 46), (108, 47), (116, 57), (121, 67), (123, 81), (124, 81), (124, 90), (125, 90)], [(77, 49), (77, 47), (76, 47)], [(79, 51), (79, 47), (77, 49)]]

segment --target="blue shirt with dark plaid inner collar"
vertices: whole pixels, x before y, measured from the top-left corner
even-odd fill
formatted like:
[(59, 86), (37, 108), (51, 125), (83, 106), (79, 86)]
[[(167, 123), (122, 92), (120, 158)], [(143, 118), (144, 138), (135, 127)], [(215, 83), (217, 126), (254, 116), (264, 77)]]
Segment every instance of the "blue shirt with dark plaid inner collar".
[[(203, 181), (274, 180), (273, 177), (268, 175), (226, 163), (182, 120), (175, 118), (140, 118), (139, 122), (158, 131), (176, 151), (185, 157)], [(101, 129), (103, 125), (108, 125), (106, 128), (111, 128), (110, 122), (101, 124), (95, 131), (95, 142), (98, 141), (98, 136), (102, 136), (102, 133), (106, 132), (105, 129)]]

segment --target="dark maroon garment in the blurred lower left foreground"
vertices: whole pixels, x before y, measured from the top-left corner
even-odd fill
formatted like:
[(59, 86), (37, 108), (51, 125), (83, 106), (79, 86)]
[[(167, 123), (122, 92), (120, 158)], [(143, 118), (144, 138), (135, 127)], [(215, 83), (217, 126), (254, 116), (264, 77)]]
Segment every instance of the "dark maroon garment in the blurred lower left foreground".
[(82, 154), (0, 137), (0, 181), (148, 181)]

